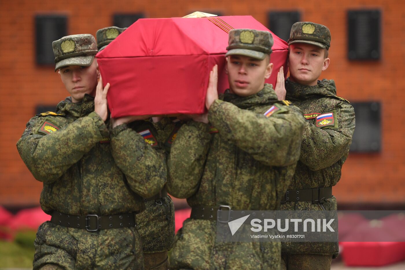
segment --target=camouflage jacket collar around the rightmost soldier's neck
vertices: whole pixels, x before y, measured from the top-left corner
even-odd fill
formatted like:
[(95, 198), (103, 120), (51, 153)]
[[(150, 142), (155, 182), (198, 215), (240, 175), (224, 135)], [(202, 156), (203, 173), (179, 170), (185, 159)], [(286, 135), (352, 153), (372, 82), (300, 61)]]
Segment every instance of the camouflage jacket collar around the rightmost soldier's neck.
[(286, 99), (290, 101), (299, 101), (306, 99), (319, 99), (322, 96), (336, 96), (335, 81), (322, 79), (318, 80), (316, 86), (305, 86), (294, 83), (287, 78), (286, 81)]

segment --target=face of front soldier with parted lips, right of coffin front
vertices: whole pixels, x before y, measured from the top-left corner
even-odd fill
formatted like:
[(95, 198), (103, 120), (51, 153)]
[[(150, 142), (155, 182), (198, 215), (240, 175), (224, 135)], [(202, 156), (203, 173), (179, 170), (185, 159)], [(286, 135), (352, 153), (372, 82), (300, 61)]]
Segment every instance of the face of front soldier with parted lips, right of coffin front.
[(230, 91), (238, 96), (250, 96), (262, 90), (272, 70), (273, 63), (269, 63), (268, 58), (258, 60), (241, 55), (226, 58)]

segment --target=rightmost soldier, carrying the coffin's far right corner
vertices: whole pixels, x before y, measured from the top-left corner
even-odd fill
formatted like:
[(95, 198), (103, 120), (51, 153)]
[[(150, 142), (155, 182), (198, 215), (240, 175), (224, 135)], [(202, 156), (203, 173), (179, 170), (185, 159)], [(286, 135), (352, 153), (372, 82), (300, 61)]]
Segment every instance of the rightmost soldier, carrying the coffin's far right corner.
[[(341, 176), (354, 132), (354, 109), (336, 96), (335, 81), (318, 77), (329, 65), (326, 26), (297, 22), (288, 40), (290, 77), (276, 92), (303, 110), (307, 119), (301, 155), (280, 210), (337, 210), (332, 186)], [(280, 70), (282, 73), (282, 70)], [(280, 83), (281, 82), (281, 83)], [(297, 195), (299, 194), (299, 195)], [(339, 252), (336, 242), (283, 242), (284, 269), (329, 269)]]

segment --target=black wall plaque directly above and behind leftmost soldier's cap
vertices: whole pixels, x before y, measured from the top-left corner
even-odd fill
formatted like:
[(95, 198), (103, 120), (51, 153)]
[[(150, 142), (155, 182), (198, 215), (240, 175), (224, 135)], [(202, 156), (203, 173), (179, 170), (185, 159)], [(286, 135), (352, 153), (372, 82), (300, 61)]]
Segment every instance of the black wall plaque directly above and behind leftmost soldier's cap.
[(38, 65), (55, 64), (52, 41), (67, 36), (67, 18), (64, 15), (36, 15), (36, 63)]

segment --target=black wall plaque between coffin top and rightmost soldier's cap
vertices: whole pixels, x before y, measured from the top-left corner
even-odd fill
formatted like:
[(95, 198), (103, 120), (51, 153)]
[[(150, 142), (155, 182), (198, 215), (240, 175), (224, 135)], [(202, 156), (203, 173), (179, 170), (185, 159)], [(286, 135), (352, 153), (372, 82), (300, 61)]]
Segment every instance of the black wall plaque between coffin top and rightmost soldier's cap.
[(291, 26), (301, 20), (298, 11), (270, 11), (267, 16), (270, 31), (284, 41), (290, 38)]

